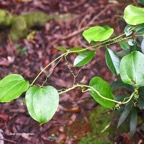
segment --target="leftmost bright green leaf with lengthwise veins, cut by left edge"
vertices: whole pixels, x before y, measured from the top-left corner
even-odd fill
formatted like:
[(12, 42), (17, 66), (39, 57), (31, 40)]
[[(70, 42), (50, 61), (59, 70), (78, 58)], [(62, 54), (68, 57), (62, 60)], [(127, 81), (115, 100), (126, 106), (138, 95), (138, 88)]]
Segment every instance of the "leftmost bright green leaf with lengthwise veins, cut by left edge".
[(0, 81), (0, 102), (10, 102), (18, 98), (29, 87), (21, 75), (10, 74)]

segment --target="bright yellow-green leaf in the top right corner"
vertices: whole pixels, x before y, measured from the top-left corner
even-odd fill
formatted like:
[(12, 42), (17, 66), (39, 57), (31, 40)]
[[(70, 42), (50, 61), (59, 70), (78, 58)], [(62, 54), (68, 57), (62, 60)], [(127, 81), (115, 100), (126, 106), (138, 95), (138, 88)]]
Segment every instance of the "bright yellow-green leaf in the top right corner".
[(144, 23), (144, 8), (128, 5), (124, 10), (124, 20), (130, 25)]

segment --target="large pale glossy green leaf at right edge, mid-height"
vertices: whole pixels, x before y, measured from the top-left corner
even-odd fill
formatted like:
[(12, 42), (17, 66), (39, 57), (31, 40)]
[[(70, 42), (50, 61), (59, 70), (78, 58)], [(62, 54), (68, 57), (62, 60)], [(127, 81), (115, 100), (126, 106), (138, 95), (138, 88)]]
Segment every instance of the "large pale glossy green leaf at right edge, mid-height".
[(124, 83), (144, 86), (144, 55), (134, 51), (124, 56), (120, 62), (120, 76)]

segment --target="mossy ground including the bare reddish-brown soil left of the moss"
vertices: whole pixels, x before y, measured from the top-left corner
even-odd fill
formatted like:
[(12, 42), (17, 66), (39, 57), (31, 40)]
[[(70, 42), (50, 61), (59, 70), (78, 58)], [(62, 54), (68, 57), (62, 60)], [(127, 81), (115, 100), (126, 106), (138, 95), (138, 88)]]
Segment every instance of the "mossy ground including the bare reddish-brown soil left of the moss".
[(102, 106), (89, 111), (87, 117), (89, 123), (80, 116), (67, 128), (67, 135), (75, 139), (75, 144), (113, 144), (114, 137), (129, 131), (127, 122), (117, 128), (118, 112), (108, 112), (108, 109)]

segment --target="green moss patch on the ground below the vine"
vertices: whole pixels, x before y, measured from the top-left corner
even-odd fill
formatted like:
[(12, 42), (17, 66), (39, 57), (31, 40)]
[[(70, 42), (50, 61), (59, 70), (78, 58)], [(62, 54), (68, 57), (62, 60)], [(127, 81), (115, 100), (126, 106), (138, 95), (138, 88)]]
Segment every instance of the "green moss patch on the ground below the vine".
[(111, 130), (109, 128), (111, 115), (105, 113), (106, 110), (106, 108), (98, 106), (94, 111), (89, 113), (89, 121), (92, 131), (88, 133), (86, 137), (82, 138), (79, 144), (113, 143), (113, 141), (110, 140)]

